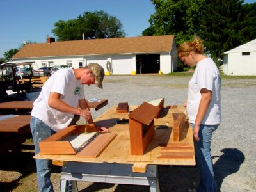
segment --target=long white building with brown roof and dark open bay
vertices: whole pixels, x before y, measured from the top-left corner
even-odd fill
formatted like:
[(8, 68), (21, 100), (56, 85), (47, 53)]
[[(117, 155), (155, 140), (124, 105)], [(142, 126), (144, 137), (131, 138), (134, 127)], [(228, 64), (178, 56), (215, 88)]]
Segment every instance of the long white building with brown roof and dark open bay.
[(158, 74), (159, 71), (168, 74), (177, 71), (173, 35), (65, 42), (55, 42), (54, 38), (48, 37), (46, 43), (24, 46), (12, 59), (35, 61), (38, 68), (53, 65), (79, 68), (95, 62), (111, 74)]

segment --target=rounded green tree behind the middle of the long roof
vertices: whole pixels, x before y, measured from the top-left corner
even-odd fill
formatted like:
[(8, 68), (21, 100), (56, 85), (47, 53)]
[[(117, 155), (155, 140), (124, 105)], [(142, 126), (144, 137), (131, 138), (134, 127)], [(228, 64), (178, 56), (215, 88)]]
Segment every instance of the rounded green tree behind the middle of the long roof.
[(92, 38), (124, 37), (122, 23), (114, 16), (103, 11), (84, 12), (77, 19), (54, 23), (52, 33), (58, 41), (82, 40)]

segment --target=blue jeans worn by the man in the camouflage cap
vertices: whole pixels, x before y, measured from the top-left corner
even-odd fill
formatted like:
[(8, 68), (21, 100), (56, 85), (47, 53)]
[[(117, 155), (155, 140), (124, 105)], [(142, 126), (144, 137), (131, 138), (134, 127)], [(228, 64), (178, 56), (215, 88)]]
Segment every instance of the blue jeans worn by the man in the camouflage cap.
[[(35, 154), (40, 153), (39, 143), (40, 141), (48, 138), (52, 134), (56, 133), (53, 131), (48, 125), (42, 122), (40, 119), (31, 116), (30, 120), (30, 129), (35, 145)], [(40, 192), (50, 192), (54, 191), (52, 182), (50, 180), (51, 177), (51, 160), (47, 159), (36, 159), (36, 172), (37, 172), (37, 180)], [(72, 191), (71, 182), (67, 182), (67, 191)]]

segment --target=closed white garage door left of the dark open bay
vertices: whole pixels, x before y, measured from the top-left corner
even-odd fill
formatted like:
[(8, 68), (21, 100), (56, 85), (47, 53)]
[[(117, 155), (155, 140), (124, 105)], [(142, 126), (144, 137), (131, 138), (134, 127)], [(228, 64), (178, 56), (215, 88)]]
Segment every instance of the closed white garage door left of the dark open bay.
[(113, 74), (131, 74), (132, 56), (112, 56)]

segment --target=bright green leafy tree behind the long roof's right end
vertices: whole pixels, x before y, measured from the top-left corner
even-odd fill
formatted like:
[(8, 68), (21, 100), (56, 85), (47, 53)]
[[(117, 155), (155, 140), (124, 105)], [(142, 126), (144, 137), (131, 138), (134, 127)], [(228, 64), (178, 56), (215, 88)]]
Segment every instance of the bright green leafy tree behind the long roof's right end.
[(204, 0), (152, 0), (156, 12), (143, 36), (175, 35), (176, 42), (190, 40), (196, 33)]

